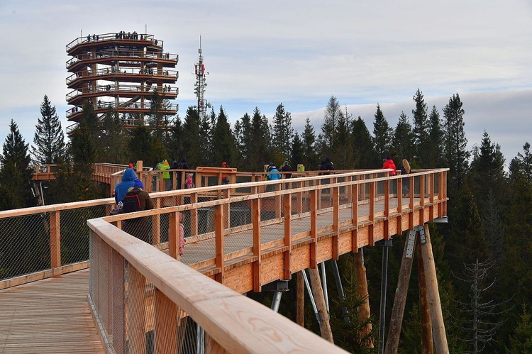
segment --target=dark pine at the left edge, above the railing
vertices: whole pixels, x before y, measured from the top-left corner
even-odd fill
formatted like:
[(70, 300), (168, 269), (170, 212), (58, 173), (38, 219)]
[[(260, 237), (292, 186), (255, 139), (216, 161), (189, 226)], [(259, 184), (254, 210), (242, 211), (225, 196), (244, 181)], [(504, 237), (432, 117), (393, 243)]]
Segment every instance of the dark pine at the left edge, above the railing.
[(31, 193), (31, 157), (28, 144), (22, 138), (18, 125), (11, 119), (9, 134), (0, 156), (0, 209), (18, 209), (35, 206)]

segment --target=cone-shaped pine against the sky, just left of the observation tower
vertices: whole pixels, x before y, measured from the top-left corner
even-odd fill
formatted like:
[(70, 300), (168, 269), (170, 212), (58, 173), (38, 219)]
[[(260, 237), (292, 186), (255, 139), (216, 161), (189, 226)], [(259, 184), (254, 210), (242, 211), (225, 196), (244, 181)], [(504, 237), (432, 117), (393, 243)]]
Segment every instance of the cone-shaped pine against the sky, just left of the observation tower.
[(46, 95), (40, 105), (40, 116), (31, 147), (33, 162), (38, 165), (57, 163), (65, 156), (65, 135), (59, 116), (55, 113), (55, 106), (50, 104)]

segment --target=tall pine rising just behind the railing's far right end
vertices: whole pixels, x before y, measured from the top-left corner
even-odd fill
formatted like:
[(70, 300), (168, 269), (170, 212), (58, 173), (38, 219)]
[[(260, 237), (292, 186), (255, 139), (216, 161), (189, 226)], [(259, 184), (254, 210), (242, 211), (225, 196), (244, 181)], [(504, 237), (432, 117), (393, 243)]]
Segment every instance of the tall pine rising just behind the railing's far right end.
[(443, 131), (445, 164), (450, 169), (450, 179), (454, 184), (462, 184), (470, 157), (466, 149), (464, 114), (460, 96), (453, 94), (443, 109)]

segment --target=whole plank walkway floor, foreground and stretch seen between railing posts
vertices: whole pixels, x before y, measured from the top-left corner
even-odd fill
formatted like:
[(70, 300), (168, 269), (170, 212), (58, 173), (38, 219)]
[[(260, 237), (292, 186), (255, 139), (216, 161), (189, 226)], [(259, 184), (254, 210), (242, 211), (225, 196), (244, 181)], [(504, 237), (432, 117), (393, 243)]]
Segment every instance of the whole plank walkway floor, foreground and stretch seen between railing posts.
[[(418, 200), (416, 198), (416, 203)], [(403, 199), (401, 204), (403, 212), (408, 212), (409, 199)], [(391, 199), (390, 207), (397, 207), (397, 199)], [(383, 210), (383, 201), (377, 201), (375, 214)], [(369, 206), (359, 205), (359, 218), (367, 215)], [(350, 221), (352, 209), (342, 209), (338, 216), (340, 223)], [(318, 228), (331, 225), (332, 211), (319, 214), (317, 219)], [(307, 230), (310, 230), (309, 216), (292, 221), (292, 235)], [(263, 226), (261, 235), (262, 244), (282, 240), (284, 223)], [(299, 242), (302, 240), (299, 238)], [(181, 261), (198, 265), (214, 258), (214, 243), (214, 238), (210, 238), (187, 244)], [(253, 231), (240, 231), (226, 238), (225, 253), (244, 250), (242, 255), (249, 256), (252, 246)], [(196, 269), (208, 272), (209, 267), (196, 266)], [(242, 279), (238, 283), (242, 283)], [(238, 289), (231, 280), (226, 285), (239, 292), (248, 291)], [(89, 270), (1, 290), (0, 353), (105, 353), (89, 311), (88, 292)]]

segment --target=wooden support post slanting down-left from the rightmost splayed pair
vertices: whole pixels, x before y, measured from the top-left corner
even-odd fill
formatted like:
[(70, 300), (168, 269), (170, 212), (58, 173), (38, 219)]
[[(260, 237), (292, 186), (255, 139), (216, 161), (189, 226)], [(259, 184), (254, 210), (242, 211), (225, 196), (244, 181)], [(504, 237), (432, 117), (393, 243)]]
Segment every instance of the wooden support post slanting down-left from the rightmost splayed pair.
[(409, 289), (412, 264), (414, 263), (415, 245), (416, 231), (410, 230), (404, 242), (403, 259), (401, 260), (399, 280), (397, 281), (397, 289), (395, 290), (394, 307), (392, 309), (392, 318), (389, 323), (388, 339), (384, 353), (397, 353), (397, 348), (399, 347), (399, 336), (401, 335), (404, 307), (406, 306), (406, 295)]

